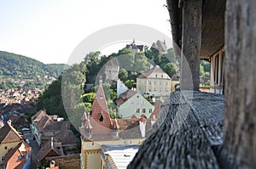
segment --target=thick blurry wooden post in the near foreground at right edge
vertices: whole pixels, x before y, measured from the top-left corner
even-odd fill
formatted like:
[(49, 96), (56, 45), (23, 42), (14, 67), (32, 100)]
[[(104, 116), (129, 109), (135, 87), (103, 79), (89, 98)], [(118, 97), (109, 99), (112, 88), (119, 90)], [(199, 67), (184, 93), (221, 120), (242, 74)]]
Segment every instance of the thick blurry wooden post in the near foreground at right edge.
[(227, 0), (224, 148), (227, 168), (256, 167), (256, 1)]

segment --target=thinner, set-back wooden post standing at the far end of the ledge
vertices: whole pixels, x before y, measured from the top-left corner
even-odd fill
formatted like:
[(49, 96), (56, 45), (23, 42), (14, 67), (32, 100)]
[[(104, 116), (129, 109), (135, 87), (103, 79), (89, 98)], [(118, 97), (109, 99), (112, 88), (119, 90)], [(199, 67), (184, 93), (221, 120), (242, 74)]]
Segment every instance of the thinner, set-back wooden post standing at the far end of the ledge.
[(181, 89), (199, 90), (202, 0), (183, 1)]

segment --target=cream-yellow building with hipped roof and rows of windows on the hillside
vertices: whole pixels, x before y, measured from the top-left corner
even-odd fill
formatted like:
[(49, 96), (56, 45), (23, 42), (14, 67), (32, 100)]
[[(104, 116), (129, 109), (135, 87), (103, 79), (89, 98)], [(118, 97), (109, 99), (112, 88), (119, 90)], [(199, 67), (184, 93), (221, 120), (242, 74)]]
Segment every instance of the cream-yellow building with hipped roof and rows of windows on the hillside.
[(137, 77), (137, 92), (154, 96), (169, 96), (171, 78), (158, 65)]

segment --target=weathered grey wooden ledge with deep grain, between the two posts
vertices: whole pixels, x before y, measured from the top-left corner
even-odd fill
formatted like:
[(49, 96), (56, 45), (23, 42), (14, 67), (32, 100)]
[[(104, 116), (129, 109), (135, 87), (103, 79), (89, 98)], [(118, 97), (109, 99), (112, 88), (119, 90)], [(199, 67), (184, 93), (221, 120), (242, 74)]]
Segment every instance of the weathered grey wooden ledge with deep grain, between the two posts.
[(219, 168), (212, 146), (223, 143), (223, 110), (223, 95), (172, 93), (128, 168)]

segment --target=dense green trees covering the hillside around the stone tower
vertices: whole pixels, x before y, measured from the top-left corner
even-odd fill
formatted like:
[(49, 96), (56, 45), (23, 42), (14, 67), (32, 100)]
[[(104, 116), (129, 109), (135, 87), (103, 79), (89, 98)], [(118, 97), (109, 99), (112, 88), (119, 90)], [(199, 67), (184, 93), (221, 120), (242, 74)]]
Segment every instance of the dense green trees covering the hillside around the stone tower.
[[(91, 52), (85, 56), (83, 62), (65, 70), (62, 79), (59, 78), (49, 86), (40, 98), (38, 110), (46, 109), (50, 114), (65, 117), (68, 115), (69, 120), (75, 121), (79, 127), (84, 108), (85, 111), (90, 111), (96, 97), (99, 75), (104, 79), (104, 65), (114, 57), (119, 61), (119, 78), (129, 88), (136, 87), (137, 76), (149, 70), (150, 65), (160, 65), (161, 69), (165, 70), (170, 77), (177, 73), (178, 69), (172, 48), (168, 50), (167, 54), (160, 54), (155, 48), (137, 54), (133, 53), (131, 49), (124, 48), (117, 54), (109, 56), (101, 56), (100, 52)], [(201, 61), (201, 73), (206, 75), (209, 70), (209, 63)], [(110, 115), (113, 118), (116, 113), (114, 104), (116, 83), (103, 83), (102, 87), (105, 91)], [(60, 103), (60, 100), (63, 100), (63, 104)], [(67, 112), (67, 114), (63, 114), (63, 112)]]

